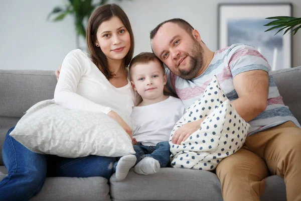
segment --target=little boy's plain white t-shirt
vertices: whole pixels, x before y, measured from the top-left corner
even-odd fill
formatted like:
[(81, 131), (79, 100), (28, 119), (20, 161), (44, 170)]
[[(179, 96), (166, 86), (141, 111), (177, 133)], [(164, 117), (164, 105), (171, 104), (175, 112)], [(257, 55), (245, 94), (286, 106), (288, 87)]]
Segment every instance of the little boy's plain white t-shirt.
[(168, 141), (184, 112), (182, 100), (173, 96), (156, 104), (134, 107), (131, 117), (140, 128), (133, 137), (145, 146), (156, 146), (159, 142)]

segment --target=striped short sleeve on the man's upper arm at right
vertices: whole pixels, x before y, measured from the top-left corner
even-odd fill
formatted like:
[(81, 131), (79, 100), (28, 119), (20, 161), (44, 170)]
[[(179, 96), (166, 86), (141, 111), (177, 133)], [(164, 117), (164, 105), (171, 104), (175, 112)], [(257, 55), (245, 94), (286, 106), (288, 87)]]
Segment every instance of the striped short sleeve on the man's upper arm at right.
[(255, 48), (248, 45), (233, 47), (227, 56), (227, 62), (233, 77), (250, 70), (269, 72), (271, 69), (266, 58)]

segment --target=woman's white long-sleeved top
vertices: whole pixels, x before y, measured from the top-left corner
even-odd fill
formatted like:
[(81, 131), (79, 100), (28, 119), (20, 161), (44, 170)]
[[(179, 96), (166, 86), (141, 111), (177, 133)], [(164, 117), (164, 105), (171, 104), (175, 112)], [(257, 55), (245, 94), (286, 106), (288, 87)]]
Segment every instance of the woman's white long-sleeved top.
[(69, 109), (105, 114), (117, 110), (127, 116), (138, 97), (130, 81), (120, 88), (113, 86), (80, 49), (65, 57), (54, 92), (55, 102)]

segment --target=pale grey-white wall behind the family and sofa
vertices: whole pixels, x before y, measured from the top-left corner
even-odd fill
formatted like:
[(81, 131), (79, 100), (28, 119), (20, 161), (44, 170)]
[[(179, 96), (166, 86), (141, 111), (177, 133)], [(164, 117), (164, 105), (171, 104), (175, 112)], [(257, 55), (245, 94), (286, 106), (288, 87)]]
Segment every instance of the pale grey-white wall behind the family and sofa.
[[(62, 0), (0, 1), (0, 69), (55, 70), (65, 55), (75, 49), (71, 17), (47, 21), (51, 10)], [(217, 6), (226, 0), (131, 0), (119, 4), (129, 17), (135, 36), (135, 52), (151, 51), (149, 31), (171, 18), (183, 18), (197, 29), (206, 45), (217, 49)], [(185, 3), (184, 3), (185, 2)], [(243, 3), (243, 0), (232, 0)], [(260, 1), (259, 1), (260, 2)], [(293, 16), (301, 17), (299, 0), (265, 0), (293, 4)], [(255, 1), (249, 1), (255, 3)], [(301, 65), (301, 30), (293, 36), (293, 66)]]

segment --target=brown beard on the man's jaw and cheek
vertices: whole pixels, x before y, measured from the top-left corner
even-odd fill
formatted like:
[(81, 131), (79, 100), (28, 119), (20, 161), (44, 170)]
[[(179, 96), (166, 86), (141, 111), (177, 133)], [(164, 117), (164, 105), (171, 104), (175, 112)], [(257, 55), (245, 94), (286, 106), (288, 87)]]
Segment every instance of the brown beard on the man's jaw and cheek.
[(203, 53), (204, 50), (201, 44), (196, 39), (194, 39), (192, 54), (187, 55), (188, 57), (190, 57), (190, 67), (188, 69), (179, 68), (179, 72), (177, 73), (178, 76), (183, 79), (196, 78), (200, 73), (201, 69), (203, 68)]

